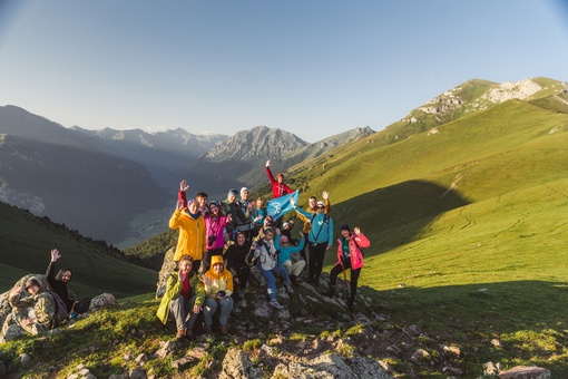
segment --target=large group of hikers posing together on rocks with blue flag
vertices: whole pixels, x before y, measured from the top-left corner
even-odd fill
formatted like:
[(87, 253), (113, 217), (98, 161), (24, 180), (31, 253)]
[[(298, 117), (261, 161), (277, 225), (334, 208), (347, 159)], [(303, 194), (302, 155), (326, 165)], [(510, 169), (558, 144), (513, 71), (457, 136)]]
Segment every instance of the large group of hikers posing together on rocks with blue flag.
[[(284, 183), (284, 175), (274, 178), (270, 161), (266, 174), (272, 185), (272, 198), (294, 193)], [(178, 230), (174, 261), (177, 270), (168, 276), (166, 292), (157, 317), (166, 324), (176, 323), (177, 338), (193, 337), (194, 324), (203, 311), (204, 331), (212, 332), (213, 317), (218, 310), (222, 334), (228, 332), (228, 318), (233, 308), (245, 297), (251, 268), (256, 266), (265, 280), (268, 303), (275, 309), (284, 307), (277, 299), (277, 279), (287, 292), (301, 282), (300, 275), (307, 265), (307, 282), (320, 284), (325, 252), (333, 245), (331, 203), (324, 192), (323, 201), (310, 197), (306, 210), (297, 206), (293, 196), (290, 204), (304, 222), (300, 239), (291, 234), (293, 220), (283, 222), (268, 214), (266, 202), (249, 200), (247, 187), (231, 190), (222, 202), (208, 202), (207, 194), (198, 192), (187, 201), (189, 185), (180, 182), (177, 205), (169, 220), (169, 227)], [(347, 307), (353, 310), (358, 280), (363, 266), (363, 251), (369, 240), (359, 227), (341, 227), (337, 240), (337, 263), (330, 273), (333, 297), (337, 275), (351, 270), (351, 291)], [(307, 254), (306, 247), (307, 246)]]

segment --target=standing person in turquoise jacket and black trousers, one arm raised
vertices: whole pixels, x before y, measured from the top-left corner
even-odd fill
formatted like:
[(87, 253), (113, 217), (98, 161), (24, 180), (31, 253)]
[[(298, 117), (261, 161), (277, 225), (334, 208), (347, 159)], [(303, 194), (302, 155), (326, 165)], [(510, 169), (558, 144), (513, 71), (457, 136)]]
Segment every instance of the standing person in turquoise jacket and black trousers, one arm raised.
[(323, 259), (325, 251), (333, 245), (333, 221), (330, 215), (325, 214), (325, 204), (317, 202), (316, 212), (307, 212), (296, 206), (293, 198), (290, 200), (292, 207), (312, 224), (312, 229), (307, 234), (310, 265), (307, 270), (307, 282), (317, 286), (320, 284), (320, 275), (322, 274)]

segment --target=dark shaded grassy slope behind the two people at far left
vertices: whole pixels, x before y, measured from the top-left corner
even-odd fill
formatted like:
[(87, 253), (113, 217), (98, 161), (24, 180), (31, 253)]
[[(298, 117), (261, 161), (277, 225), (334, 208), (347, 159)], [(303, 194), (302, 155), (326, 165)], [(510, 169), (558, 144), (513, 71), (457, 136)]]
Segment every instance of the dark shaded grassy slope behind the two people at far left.
[(42, 218), (0, 203), (0, 292), (22, 273), (46, 272), (51, 249), (62, 255), (58, 268), (69, 268), (69, 284), (79, 297), (111, 292), (117, 298), (155, 290), (157, 272), (106, 255), (105, 249)]

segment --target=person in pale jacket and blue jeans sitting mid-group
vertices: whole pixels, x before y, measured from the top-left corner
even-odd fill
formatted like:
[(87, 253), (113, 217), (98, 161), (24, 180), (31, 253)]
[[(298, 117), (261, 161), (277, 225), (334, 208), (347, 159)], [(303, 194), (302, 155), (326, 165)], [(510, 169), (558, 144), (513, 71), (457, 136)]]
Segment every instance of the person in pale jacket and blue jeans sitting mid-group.
[(266, 282), (266, 289), (268, 291), (268, 298), (271, 299), (270, 304), (276, 309), (283, 309), (284, 307), (278, 302), (276, 291), (276, 275), (280, 275), (286, 290), (294, 292), (291, 285), (288, 273), (282, 264), (278, 264), (278, 250), (274, 243), (275, 231), (268, 227), (264, 232), (264, 237), (258, 240), (254, 250), (254, 259), (258, 262), (257, 268)]

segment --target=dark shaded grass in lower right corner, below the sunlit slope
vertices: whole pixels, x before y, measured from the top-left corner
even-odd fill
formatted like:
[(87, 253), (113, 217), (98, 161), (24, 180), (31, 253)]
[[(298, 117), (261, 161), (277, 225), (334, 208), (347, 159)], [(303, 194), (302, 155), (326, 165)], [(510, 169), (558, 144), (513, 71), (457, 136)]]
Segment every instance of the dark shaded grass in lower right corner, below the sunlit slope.
[(462, 347), (471, 363), (536, 365), (568, 378), (567, 289), (567, 282), (512, 281), (364, 291), (391, 322)]

